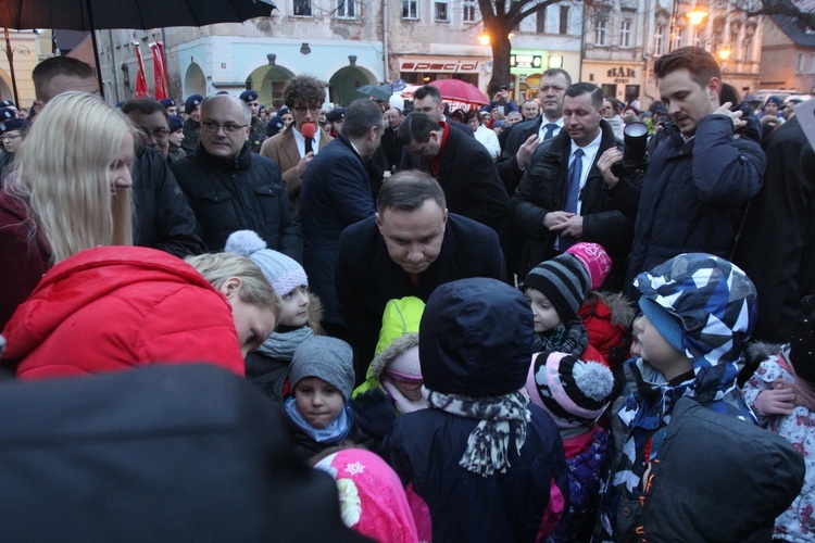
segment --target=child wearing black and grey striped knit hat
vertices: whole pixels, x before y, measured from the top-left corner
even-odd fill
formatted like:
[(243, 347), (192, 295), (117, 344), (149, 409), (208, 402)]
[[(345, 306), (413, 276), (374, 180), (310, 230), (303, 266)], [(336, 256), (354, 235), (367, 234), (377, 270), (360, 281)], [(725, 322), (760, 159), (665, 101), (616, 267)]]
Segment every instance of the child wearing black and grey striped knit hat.
[(605, 363), (589, 343), (577, 315), (591, 277), (574, 254), (561, 254), (535, 266), (524, 280), (524, 293), (535, 315), (532, 352), (561, 352), (582, 361)]

